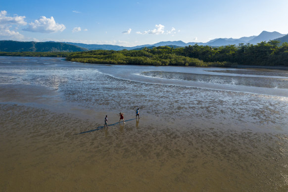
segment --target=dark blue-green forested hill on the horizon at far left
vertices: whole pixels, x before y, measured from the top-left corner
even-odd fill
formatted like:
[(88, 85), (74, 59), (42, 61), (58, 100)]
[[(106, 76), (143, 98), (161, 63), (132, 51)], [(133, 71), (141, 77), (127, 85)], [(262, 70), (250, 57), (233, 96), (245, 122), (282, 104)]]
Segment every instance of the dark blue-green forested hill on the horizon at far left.
[(87, 49), (56, 42), (0, 41), (0, 51), (4, 52), (75, 52), (85, 50)]

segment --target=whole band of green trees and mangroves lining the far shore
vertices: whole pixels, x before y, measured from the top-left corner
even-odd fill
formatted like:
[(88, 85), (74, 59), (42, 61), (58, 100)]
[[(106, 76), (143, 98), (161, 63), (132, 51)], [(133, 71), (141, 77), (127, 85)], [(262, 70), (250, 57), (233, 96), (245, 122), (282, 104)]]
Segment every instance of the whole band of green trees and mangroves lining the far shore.
[(222, 66), (240, 65), (288, 66), (288, 43), (280, 41), (223, 47), (168, 46), (142, 50), (91, 50), (82, 52), (0, 52), (11, 56), (62, 56), (69, 61), (102, 64)]

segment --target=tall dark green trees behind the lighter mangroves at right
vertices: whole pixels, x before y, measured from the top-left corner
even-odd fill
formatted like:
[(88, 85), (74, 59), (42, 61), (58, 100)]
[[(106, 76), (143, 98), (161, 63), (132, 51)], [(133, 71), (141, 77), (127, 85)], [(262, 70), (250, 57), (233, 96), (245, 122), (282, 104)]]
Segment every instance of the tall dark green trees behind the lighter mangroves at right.
[(198, 58), (206, 62), (227, 61), (241, 65), (288, 65), (288, 43), (280, 41), (253, 44), (229, 45), (219, 48), (208, 46), (189, 46), (183, 48), (184, 56)]

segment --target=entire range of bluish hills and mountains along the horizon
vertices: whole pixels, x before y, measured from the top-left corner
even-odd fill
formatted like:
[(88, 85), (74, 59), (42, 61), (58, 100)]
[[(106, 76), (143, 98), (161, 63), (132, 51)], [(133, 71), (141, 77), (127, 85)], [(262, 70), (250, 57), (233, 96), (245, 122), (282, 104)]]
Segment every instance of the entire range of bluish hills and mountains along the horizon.
[(220, 47), (227, 45), (239, 45), (239, 44), (257, 44), (262, 41), (268, 42), (269, 40), (278, 40), (281, 43), (288, 42), (288, 35), (281, 34), (276, 31), (267, 32), (263, 31), (258, 36), (241, 37), (239, 39), (233, 38), (217, 38), (206, 43), (184, 43), (183, 41), (167, 41), (159, 42), (153, 45), (141, 45), (135, 47), (123, 47), (114, 45), (97, 45), (97, 44), (81, 44), (72, 42), (17, 42), (17, 41), (0, 41), (0, 51), (6, 52), (20, 52), (20, 51), (32, 51), (32, 52), (46, 52), (46, 51), (60, 51), (60, 52), (74, 52), (74, 51), (87, 51), (87, 50), (139, 50), (144, 47), (153, 48), (158, 46), (169, 46), (173, 48), (202, 45), (211, 47)]

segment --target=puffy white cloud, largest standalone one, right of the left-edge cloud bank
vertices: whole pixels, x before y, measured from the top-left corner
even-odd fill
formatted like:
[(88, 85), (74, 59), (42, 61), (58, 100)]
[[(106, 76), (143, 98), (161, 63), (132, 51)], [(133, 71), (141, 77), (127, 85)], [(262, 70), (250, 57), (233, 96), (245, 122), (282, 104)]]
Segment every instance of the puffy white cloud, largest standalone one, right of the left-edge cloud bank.
[(46, 18), (41, 16), (39, 20), (29, 23), (28, 28), (23, 30), (30, 32), (39, 32), (39, 33), (55, 33), (62, 32), (66, 27), (63, 24), (58, 24), (55, 22), (53, 17)]

